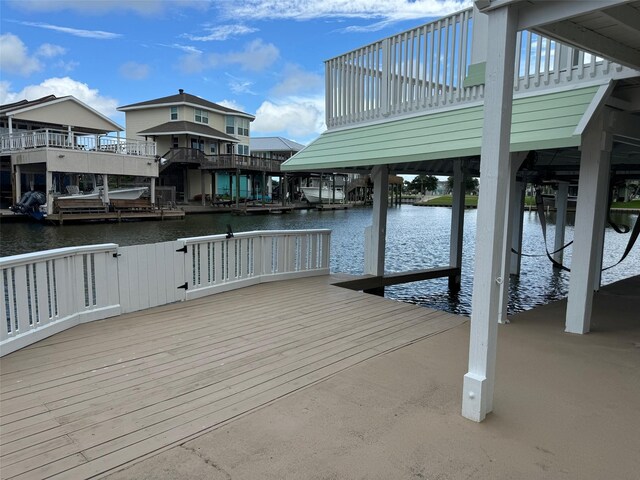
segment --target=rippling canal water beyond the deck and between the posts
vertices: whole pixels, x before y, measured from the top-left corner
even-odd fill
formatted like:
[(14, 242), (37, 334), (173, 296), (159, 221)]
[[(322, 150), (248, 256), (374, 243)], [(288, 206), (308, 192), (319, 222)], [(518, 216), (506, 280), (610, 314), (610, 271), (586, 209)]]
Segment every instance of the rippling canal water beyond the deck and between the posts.
[[(446, 279), (426, 280), (387, 287), (385, 296), (452, 313), (469, 314), (473, 281), (476, 210), (465, 212), (462, 288), (452, 294)], [(637, 214), (616, 214), (614, 221), (633, 227)], [(389, 209), (387, 220), (387, 272), (446, 266), (449, 259), (451, 209), (402, 205)], [(555, 217), (547, 215), (549, 250), (553, 250)], [(51, 248), (117, 243), (135, 245), (251, 230), (289, 230), (329, 228), (331, 271), (361, 274), (364, 229), (371, 224), (371, 209), (337, 211), (296, 211), (282, 215), (236, 216), (228, 214), (187, 215), (184, 220), (164, 222), (123, 222), (51, 226), (35, 223), (4, 224), (0, 232), (0, 256), (16, 255)], [(573, 216), (569, 216), (566, 241), (573, 239)], [(605, 233), (604, 265), (615, 264), (622, 256), (629, 234)], [(544, 256), (542, 229), (537, 214), (525, 212), (523, 253), (542, 255), (523, 257), (522, 272), (510, 288), (510, 313), (566, 297), (569, 274), (554, 271)], [(571, 246), (565, 250), (565, 264), (571, 264)], [(640, 274), (640, 246), (636, 245), (619, 265), (603, 272), (603, 284)]]

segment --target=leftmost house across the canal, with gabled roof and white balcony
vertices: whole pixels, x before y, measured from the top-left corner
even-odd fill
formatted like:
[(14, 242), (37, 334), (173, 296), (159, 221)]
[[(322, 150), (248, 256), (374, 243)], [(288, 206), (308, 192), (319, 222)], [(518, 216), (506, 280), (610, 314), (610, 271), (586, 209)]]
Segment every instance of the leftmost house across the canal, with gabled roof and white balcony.
[(156, 144), (124, 138), (122, 131), (72, 96), (48, 95), (0, 106), (3, 205), (37, 191), (45, 197), (47, 213), (52, 213), (54, 198), (76, 191), (67, 187), (78, 187), (77, 179), (84, 174), (101, 178), (105, 203), (109, 176), (140, 179), (153, 193)]

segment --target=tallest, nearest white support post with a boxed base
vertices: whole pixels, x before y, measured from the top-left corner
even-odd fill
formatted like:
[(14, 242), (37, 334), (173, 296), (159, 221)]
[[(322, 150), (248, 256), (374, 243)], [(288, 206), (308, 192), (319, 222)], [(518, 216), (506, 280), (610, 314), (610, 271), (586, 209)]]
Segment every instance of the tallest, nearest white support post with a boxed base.
[(476, 422), (493, 410), (517, 20), (517, 10), (510, 4), (489, 13), (491, 48), (487, 46), (482, 194), (476, 229), (469, 371), (462, 390), (462, 415)]

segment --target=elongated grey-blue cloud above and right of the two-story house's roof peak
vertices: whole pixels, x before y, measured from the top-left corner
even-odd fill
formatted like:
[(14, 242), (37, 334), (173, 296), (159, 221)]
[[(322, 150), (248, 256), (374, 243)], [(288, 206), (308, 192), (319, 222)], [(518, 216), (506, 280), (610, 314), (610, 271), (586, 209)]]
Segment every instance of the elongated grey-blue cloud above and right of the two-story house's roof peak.
[(279, 56), (280, 51), (275, 45), (256, 39), (237, 52), (185, 55), (180, 59), (178, 68), (185, 73), (197, 73), (210, 68), (237, 65), (241, 70), (259, 72), (269, 68)]

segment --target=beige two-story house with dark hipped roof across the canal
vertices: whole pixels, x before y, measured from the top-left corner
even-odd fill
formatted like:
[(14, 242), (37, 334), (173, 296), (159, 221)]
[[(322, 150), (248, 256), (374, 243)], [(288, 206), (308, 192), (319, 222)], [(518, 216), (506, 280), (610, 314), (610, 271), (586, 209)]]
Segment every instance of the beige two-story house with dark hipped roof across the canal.
[(125, 113), (130, 135), (157, 143), (162, 157), (160, 185), (175, 187), (179, 200), (204, 202), (216, 195), (248, 198), (256, 185), (264, 188), (269, 167), (250, 157), (253, 115), (183, 89), (118, 110)]

